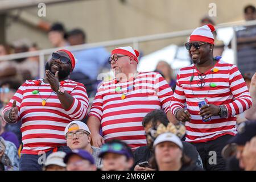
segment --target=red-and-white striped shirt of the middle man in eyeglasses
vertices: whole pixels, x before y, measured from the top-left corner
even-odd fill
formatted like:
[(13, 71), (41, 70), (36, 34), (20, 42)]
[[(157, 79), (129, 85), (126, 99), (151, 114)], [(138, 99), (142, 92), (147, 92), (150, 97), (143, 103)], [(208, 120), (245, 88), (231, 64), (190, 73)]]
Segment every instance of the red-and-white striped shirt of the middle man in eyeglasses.
[[(134, 89), (127, 90), (133, 85)], [(115, 92), (118, 86), (122, 86), (121, 92)], [(126, 94), (123, 100), (122, 93)], [(147, 143), (142, 126), (143, 117), (155, 109), (164, 109), (167, 113), (172, 94), (167, 81), (156, 72), (139, 73), (133, 80), (117, 84), (114, 80), (103, 82), (98, 88), (89, 116), (100, 119), (106, 142), (123, 140), (134, 150)]]

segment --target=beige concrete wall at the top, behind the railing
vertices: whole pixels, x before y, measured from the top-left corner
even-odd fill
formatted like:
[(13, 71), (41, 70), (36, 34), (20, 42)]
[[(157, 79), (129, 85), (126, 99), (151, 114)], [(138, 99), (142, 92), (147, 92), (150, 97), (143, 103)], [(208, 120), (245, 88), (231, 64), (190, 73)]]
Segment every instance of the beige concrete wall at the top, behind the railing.
[[(218, 23), (243, 20), (243, 7), (254, 0), (85, 0), (55, 5), (47, 5), (46, 17), (49, 22), (62, 22), (68, 30), (82, 28), (86, 31), (88, 43), (101, 42), (186, 30), (199, 26), (202, 16), (208, 15), (209, 3), (216, 3)], [(23, 9), (31, 16), (37, 16), (38, 7)], [(20, 11), (20, 13), (22, 13)], [(28, 38), (38, 43), (40, 48), (49, 48), (47, 33), (28, 26), (19, 20), (7, 19), (6, 40), (11, 43), (20, 38)], [(183, 39), (163, 40), (143, 43), (140, 48), (145, 53), (175, 43)]]

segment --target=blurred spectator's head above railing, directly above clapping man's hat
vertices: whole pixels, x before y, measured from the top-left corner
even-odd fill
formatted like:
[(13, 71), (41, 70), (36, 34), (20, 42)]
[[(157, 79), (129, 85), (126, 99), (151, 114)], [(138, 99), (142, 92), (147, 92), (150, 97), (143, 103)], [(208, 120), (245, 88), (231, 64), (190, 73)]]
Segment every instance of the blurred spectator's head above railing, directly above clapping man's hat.
[(53, 47), (66, 47), (69, 46), (69, 43), (66, 38), (65, 28), (62, 23), (53, 23), (49, 32), (48, 39)]

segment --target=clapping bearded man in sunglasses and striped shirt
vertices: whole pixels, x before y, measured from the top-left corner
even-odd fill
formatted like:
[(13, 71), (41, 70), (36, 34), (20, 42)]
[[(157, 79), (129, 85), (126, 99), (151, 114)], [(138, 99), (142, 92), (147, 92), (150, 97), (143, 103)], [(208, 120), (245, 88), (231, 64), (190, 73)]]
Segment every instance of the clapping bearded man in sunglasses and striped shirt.
[(69, 122), (84, 119), (89, 109), (84, 85), (69, 79), (76, 62), (66, 49), (53, 52), (46, 63), (46, 76), (24, 82), (5, 106), (7, 123), (22, 122), (20, 170), (41, 170), (39, 151), (49, 155), (58, 147), (70, 150), (64, 129)]

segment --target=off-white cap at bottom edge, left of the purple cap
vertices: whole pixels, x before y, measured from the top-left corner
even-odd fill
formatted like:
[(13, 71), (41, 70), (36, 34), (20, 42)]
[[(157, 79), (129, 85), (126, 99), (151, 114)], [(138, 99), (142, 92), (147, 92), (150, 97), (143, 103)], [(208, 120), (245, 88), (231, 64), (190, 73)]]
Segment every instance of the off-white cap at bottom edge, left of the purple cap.
[(66, 153), (63, 151), (53, 152), (47, 157), (44, 166), (57, 165), (61, 167), (66, 167), (66, 164), (63, 162), (65, 155)]

